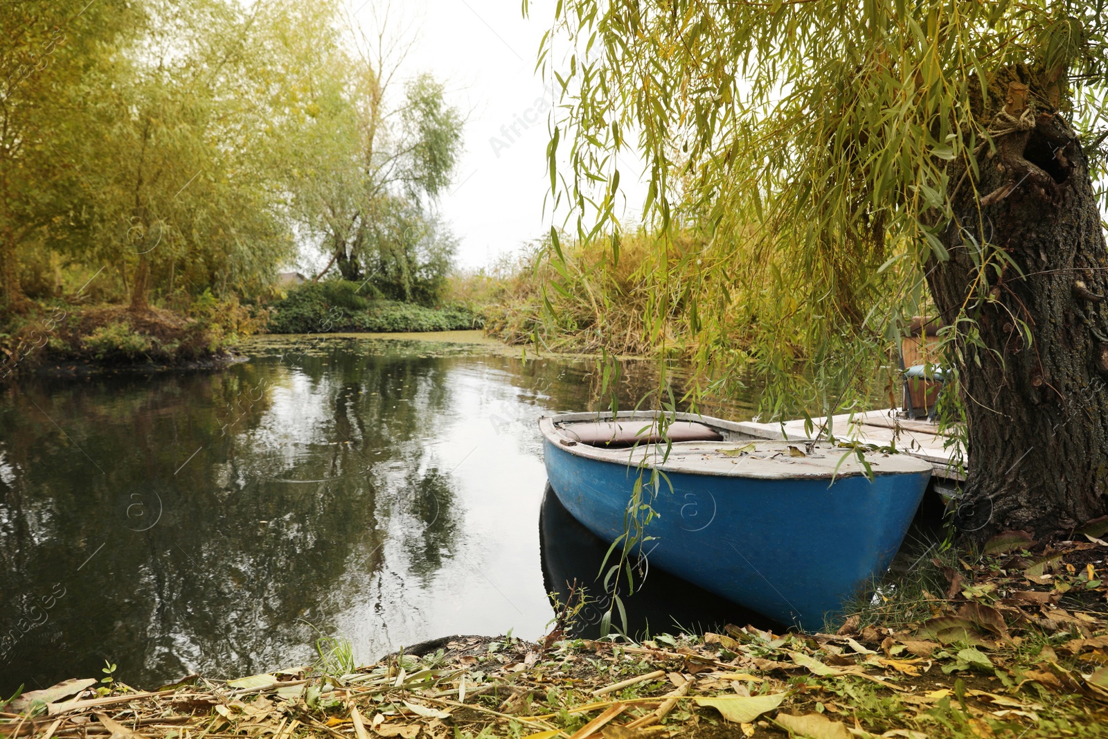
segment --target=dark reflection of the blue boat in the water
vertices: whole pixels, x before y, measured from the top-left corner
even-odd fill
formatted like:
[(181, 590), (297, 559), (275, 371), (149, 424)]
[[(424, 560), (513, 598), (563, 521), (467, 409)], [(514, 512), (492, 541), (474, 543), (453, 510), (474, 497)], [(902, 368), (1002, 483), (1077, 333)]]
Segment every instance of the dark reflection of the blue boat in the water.
[[(555, 594), (557, 603), (566, 602), (574, 583), (578, 588), (586, 588), (589, 603), (581, 609), (568, 636), (599, 637), (601, 617), (609, 605), (601, 572), (608, 544), (570, 515), (548, 483), (538, 515), (538, 542), (543, 582), (546, 592)], [(618, 553), (614, 552), (607, 566), (617, 556)], [(632, 637), (679, 630), (697, 634), (720, 632), (725, 624), (752, 624), (762, 629), (784, 630), (783, 626), (760, 614), (658, 567), (650, 567), (648, 561), (637, 568), (635, 587), (633, 595), (626, 595), (627, 578), (622, 578), (619, 594), (627, 612), (627, 635)], [(617, 608), (613, 609), (612, 622), (613, 630), (622, 628)]]

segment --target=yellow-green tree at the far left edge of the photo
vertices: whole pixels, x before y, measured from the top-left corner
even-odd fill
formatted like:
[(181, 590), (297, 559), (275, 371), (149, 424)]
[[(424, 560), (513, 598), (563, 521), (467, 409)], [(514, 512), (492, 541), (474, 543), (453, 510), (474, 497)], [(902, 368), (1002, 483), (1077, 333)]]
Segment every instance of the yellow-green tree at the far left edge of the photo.
[(88, 138), (96, 80), (143, 23), (136, 3), (0, 3), (0, 310), (31, 307), (22, 264), (43, 244), (86, 239), (86, 186), (72, 153)]

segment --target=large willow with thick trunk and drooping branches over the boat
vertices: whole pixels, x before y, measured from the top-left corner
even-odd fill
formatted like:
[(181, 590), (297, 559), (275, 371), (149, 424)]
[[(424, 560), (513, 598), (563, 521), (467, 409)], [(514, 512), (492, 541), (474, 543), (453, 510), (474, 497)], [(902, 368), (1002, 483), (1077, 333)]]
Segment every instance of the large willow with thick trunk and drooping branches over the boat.
[(735, 351), (772, 408), (806, 377), (848, 397), (905, 315), (935, 311), (962, 531), (1071, 530), (1108, 490), (1101, 6), (564, 0), (540, 57), (562, 93), (555, 203), (617, 252), (637, 151), (648, 226), (704, 245), (675, 257), (657, 316), (691, 300), (710, 366), (737, 299), (758, 306)]

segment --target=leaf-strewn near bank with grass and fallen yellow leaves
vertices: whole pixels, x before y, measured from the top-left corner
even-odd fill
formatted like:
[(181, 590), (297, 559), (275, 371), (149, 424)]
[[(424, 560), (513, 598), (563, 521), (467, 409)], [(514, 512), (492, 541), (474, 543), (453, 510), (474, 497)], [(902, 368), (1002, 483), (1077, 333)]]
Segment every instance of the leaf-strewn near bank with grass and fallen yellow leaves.
[[(155, 690), (66, 680), (0, 705), (9, 737), (124, 739), (1012, 739), (1108, 736), (1108, 551), (1023, 532), (921, 557), (829, 633), (578, 639), (587, 599), (537, 642), (452, 636), (355, 667), (341, 637), (308, 666)], [(1088, 533), (1092, 532), (1092, 533)], [(1076, 541), (1080, 538), (1081, 541)], [(833, 629), (833, 633), (830, 633)]]

